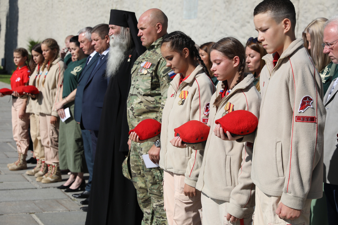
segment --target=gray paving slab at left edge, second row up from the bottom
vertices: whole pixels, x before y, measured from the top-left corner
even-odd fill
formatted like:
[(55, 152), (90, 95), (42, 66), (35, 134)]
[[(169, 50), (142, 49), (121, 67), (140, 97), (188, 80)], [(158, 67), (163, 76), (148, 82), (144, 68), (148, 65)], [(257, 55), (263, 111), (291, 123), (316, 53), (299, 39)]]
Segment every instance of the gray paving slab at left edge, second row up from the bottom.
[(0, 215), (42, 212), (43, 210), (33, 201), (0, 202)]

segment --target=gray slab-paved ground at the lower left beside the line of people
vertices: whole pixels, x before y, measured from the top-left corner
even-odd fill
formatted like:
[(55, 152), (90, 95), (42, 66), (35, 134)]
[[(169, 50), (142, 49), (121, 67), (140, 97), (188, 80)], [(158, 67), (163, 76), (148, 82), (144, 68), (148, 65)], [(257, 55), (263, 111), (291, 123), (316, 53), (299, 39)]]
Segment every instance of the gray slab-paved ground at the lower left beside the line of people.
[[(0, 82), (1, 88), (10, 88)], [(28, 151), (27, 159), (31, 157)], [(10, 171), (7, 163), (18, 158), (11, 126), (11, 99), (0, 98), (0, 224), (1, 225), (78, 225), (86, 221), (86, 212), (80, 210), (80, 201), (56, 189), (69, 178), (62, 175), (62, 182), (44, 184), (36, 182), (26, 170)], [(28, 164), (33, 169), (35, 164)], [(84, 174), (88, 181), (89, 174)], [(81, 193), (81, 192), (75, 192)]]

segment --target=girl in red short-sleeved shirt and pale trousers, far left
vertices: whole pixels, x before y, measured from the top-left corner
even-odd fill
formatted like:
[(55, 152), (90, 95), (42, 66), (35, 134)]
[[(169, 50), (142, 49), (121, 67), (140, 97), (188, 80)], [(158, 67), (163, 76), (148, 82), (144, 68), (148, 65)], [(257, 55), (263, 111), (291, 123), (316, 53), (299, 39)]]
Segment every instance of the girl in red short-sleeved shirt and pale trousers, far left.
[[(30, 69), (28, 66), (28, 52), (24, 48), (18, 48), (13, 53), (14, 63), (17, 69), (10, 77), (10, 86), (16, 87), (27, 85)], [(0, 97), (3, 95), (0, 93)], [(26, 96), (20, 96), (18, 92), (12, 94), (12, 128), (13, 138), (17, 144), (18, 160), (7, 164), (9, 170), (27, 169), (26, 156), (29, 146), (28, 126), (29, 114), (26, 113)]]

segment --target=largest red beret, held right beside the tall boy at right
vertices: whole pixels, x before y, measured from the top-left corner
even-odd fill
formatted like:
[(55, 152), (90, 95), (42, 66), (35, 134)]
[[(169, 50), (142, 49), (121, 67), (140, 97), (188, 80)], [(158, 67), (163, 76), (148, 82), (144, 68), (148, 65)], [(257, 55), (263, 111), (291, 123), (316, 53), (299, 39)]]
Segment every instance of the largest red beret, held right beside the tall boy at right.
[(235, 110), (216, 120), (215, 123), (221, 124), (224, 133), (229, 131), (235, 135), (247, 135), (256, 130), (258, 119), (247, 110)]

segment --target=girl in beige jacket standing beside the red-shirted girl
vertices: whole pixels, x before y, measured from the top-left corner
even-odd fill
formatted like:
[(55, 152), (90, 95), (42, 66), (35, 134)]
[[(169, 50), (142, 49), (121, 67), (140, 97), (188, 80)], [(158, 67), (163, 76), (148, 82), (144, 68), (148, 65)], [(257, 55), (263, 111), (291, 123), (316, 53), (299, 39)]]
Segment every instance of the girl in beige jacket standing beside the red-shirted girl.
[[(41, 66), (45, 58), (42, 55), (41, 44), (36, 44), (32, 48), (32, 57), (30, 60), (31, 64), (31, 72), (29, 75), (29, 85), (37, 86), (36, 80), (37, 76), (40, 73)], [(40, 105), (38, 104), (36, 98), (37, 96), (28, 94), (29, 96), (27, 99), (27, 108), (26, 113), (29, 113), (29, 120), (30, 120), (30, 136), (33, 143), (33, 151), (34, 155), (37, 159), (37, 166), (34, 169), (26, 171), (28, 175), (35, 175), (40, 170), (41, 167), (45, 167), (45, 151), (41, 144), (41, 136), (40, 136)], [(46, 167), (45, 167), (46, 168)], [(39, 174), (41, 174), (40, 172)], [(38, 176), (37, 174), (36, 176)], [(41, 176), (44, 175), (41, 174)]]

